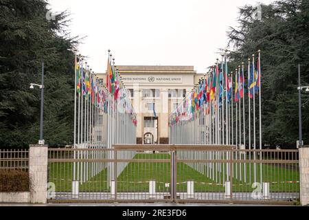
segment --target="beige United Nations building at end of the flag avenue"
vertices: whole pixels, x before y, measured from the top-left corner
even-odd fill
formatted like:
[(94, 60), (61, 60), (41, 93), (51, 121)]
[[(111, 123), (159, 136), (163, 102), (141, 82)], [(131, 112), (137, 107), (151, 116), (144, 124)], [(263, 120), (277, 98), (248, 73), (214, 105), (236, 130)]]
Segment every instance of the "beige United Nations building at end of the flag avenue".
[[(203, 74), (193, 66), (118, 65), (137, 113), (137, 144), (168, 144), (168, 115)], [(106, 74), (97, 74), (106, 80)]]

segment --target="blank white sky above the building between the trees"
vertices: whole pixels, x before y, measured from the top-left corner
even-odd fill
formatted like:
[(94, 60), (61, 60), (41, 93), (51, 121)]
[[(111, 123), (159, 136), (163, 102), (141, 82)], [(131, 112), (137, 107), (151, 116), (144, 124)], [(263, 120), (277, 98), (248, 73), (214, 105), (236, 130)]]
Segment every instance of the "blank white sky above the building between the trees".
[[(194, 65), (198, 73), (220, 58), (238, 7), (255, 0), (48, 0), (71, 13), (72, 36), (95, 72), (105, 72), (108, 49), (116, 65)], [(262, 0), (271, 3), (273, 0)]]

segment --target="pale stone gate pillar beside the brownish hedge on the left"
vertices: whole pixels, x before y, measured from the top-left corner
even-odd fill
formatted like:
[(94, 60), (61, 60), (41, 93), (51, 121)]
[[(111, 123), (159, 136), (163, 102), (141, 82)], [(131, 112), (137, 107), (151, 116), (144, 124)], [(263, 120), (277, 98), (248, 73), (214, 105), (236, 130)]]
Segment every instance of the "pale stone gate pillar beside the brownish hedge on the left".
[(47, 145), (30, 145), (29, 175), (30, 202), (47, 203)]

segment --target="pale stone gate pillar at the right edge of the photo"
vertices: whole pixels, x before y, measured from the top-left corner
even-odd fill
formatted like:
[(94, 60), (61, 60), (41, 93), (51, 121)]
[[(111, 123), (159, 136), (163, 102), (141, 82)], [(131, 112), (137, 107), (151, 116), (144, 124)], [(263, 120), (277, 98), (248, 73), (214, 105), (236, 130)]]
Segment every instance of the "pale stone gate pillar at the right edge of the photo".
[(299, 148), (299, 195), (302, 206), (309, 204), (309, 147)]

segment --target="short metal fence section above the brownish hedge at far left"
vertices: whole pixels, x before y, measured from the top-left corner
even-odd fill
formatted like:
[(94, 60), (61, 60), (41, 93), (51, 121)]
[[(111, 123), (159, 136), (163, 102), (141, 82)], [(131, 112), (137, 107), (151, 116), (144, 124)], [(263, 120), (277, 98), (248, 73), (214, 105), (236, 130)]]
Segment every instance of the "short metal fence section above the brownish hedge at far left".
[(28, 149), (0, 149), (0, 169), (21, 170), (29, 168)]

